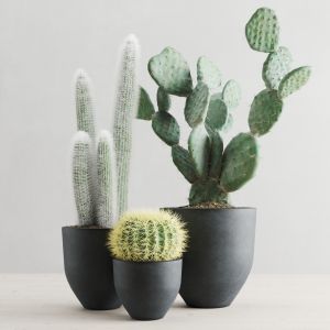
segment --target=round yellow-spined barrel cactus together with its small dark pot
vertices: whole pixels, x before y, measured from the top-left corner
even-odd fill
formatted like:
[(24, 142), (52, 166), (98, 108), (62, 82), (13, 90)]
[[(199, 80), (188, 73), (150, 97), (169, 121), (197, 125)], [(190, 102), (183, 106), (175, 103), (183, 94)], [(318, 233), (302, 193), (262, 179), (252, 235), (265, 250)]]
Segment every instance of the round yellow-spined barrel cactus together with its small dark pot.
[(125, 213), (109, 234), (114, 286), (133, 319), (165, 316), (178, 294), (186, 231), (167, 211)]

